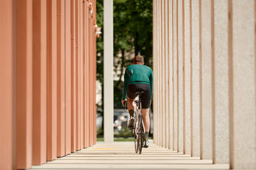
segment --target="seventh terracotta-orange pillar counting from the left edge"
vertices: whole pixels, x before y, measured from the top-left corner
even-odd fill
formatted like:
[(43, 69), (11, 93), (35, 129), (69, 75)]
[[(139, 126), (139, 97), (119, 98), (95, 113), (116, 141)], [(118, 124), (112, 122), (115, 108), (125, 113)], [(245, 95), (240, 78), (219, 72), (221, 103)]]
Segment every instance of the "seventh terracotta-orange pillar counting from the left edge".
[(71, 152), (76, 151), (76, 0), (71, 0)]

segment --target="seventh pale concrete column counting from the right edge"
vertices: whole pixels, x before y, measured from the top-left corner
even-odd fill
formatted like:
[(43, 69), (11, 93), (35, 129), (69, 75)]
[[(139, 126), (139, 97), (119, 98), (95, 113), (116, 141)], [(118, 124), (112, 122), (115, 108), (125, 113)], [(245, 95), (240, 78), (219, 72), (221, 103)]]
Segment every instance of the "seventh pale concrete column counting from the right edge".
[(173, 150), (178, 150), (177, 1), (173, 0)]

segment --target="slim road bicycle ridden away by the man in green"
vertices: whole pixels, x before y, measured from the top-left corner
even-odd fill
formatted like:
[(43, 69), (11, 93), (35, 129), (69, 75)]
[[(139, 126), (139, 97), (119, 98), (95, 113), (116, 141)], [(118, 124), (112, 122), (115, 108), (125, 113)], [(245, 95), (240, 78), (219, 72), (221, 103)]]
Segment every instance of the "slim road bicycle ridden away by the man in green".
[[(134, 101), (136, 103), (136, 108), (134, 111), (134, 129), (133, 129), (133, 134), (134, 134), (134, 148), (136, 153), (140, 153), (143, 148), (143, 134), (145, 133), (145, 126), (143, 123), (143, 117), (141, 114), (141, 99), (140, 96), (144, 92), (136, 92), (136, 96), (139, 96), (139, 99)], [(127, 101), (126, 101), (127, 102)], [(124, 105), (125, 106), (125, 105)]]

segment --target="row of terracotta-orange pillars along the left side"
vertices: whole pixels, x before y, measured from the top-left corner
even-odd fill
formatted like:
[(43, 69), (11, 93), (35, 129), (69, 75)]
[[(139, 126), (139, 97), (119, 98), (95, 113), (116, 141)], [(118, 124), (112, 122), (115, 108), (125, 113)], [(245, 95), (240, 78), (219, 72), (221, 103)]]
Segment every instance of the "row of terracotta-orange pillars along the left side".
[(96, 143), (95, 9), (95, 0), (0, 2), (0, 169)]

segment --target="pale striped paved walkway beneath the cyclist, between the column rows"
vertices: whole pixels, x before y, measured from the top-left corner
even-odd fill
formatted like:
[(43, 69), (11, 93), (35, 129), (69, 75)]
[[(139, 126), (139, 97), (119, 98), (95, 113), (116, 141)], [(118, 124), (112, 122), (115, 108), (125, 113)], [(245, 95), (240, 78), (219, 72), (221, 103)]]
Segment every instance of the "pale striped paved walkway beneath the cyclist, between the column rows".
[(71, 153), (32, 169), (228, 169), (228, 164), (212, 164), (150, 143), (141, 155), (134, 143), (103, 143)]

